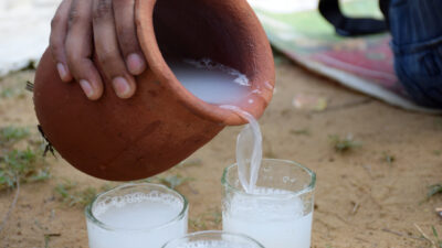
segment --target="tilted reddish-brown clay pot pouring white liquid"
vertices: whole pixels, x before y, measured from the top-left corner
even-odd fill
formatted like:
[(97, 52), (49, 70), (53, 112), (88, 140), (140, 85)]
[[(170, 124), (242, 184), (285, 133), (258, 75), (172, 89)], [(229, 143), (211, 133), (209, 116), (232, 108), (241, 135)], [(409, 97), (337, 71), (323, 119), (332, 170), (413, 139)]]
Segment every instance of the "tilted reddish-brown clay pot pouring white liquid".
[(35, 75), (35, 111), (48, 139), (67, 162), (99, 179), (155, 175), (225, 126), (245, 123), (190, 94), (166, 64), (166, 55), (210, 57), (246, 74), (253, 94), (236, 106), (256, 118), (272, 98), (272, 51), (245, 0), (139, 0), (136, 22), (149, 69), (136, 78), (138, 88), (130, 99), (117, 98), (105, 79), (103, 97), (88, 100), (78, 84), (62, 83), (48, 51)]

